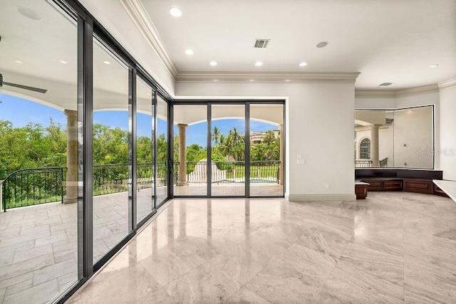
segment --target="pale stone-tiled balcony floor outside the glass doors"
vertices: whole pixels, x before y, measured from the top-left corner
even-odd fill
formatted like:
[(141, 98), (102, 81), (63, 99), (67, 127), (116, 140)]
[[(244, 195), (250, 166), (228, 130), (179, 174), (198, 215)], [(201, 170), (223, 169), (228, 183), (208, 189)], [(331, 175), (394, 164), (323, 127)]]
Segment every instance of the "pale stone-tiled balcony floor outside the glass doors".
[[(277, 187), (272, 186), (274, 193)], [(195, 195), (205, 186), (176, 188), (176, 194)], [(222, 195), (239, 189), (243, 194), (244, 184), (221, 188)], [(266, 192), (266, 187), (261, 188)], [(165, 187), (157, 192), (164, 197)], [(150, 189), (138, 192), (138, 221), (150, 214), (151, 195)], [(76, 224), (76, 204), (50, 203), (0, 212), (0, 303), (45, 303), (76, 279)], [(96, 261), (128, 232), (128, 193), (95, 196), (93, 226)]]

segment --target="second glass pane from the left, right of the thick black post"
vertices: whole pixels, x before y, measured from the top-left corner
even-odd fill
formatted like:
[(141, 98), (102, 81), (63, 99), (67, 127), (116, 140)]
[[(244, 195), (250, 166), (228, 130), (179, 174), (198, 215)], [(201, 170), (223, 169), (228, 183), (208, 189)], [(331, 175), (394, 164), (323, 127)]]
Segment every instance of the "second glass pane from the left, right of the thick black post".
[(130, 230), (128, 68), (93, 43), (93, 261)]

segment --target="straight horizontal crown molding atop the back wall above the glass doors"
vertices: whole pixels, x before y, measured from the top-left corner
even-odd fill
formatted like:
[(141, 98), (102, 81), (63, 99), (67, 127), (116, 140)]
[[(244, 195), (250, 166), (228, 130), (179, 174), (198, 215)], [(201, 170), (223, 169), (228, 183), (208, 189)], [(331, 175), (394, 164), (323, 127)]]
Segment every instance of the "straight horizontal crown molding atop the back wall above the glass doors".
[(360, 73), (190, 73), (177, 74), (177, 83), (355, 83)]

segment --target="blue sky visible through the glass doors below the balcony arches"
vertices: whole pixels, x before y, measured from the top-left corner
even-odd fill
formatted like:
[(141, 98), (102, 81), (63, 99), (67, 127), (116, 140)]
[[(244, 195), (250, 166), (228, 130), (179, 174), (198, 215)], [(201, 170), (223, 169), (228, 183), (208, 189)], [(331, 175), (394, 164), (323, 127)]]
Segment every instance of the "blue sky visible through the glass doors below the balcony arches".
[[(23, 98), (17, 98), (11, 95), (0, 94), (0, 120), (9, 120), (13, 122), (14, 127), (24, 127), (28, 122), (38, 123), (43, 127), (49, 125), (49, 117), (52, 117), (53, 122), (60, 123), (63, 128), (66, 127), (66, 115), (61, 110), (31, 102)], [(150, 123), (150, 115), (138, 114), (138, 135), (150, 136), (152, 125)], [(100, 111), (93, 113), (93, 121), (110, 127), (120, 127), (123, 130), (128, 130), (128, 112), (125, 111)], [(231, 120), (214, 120), (212, 128), (217, 126), (223, 135), (227, 135), (228, 131), (233, 127), (237, 127), (244, 133), (245, 122), (241, 119)], [(250, 123), (252, 131), (276, 130), (275, 125), (266, 122), (253, 121)], [(166, 131), (166, 123), (163, 120), (157, 122), (157, 134)], [(177, 126), (174, 126), (175, 135), (179, 134)], [(200, 122), (196, 125), (187, 127), (187, 145), (196, 143), (202, 147), (206, 147), (207, 122)]]

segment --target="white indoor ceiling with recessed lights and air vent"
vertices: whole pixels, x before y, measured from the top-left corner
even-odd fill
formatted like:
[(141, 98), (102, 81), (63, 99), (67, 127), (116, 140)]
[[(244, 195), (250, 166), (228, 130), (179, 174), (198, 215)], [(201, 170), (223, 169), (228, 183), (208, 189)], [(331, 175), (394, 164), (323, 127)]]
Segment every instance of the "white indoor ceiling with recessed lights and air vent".
[[(456, 0), (142, 0), (178, 72), (361, 72), (402, 90), (456, 76)], [(168, 10), (179, 7), (180, 18)], [(269, 38), (255, 49), (256, 38)], [(326, 48), (316, 48), (328, 41)], [(188, 56), (191, 48), (195, 54)], [(209, 65), (217, 61), (218, 65)], [(255, 62), (264, 65), (257, 67)], [(308, 65), (299, 67), (306, 61)], [(437, 63), (437, 68), (430, 65)]]

